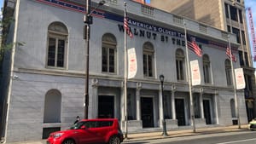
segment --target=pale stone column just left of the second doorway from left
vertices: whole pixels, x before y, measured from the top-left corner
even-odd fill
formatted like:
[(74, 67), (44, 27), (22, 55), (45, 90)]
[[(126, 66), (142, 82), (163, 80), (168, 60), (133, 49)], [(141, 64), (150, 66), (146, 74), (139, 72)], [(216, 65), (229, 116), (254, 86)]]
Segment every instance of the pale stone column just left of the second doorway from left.
[(136, 88), (136, 119), (141, 120), (142, 114), (141, 114), (141, 89), (142, 89), (142, 84), (137, 83), (137, 88)]

